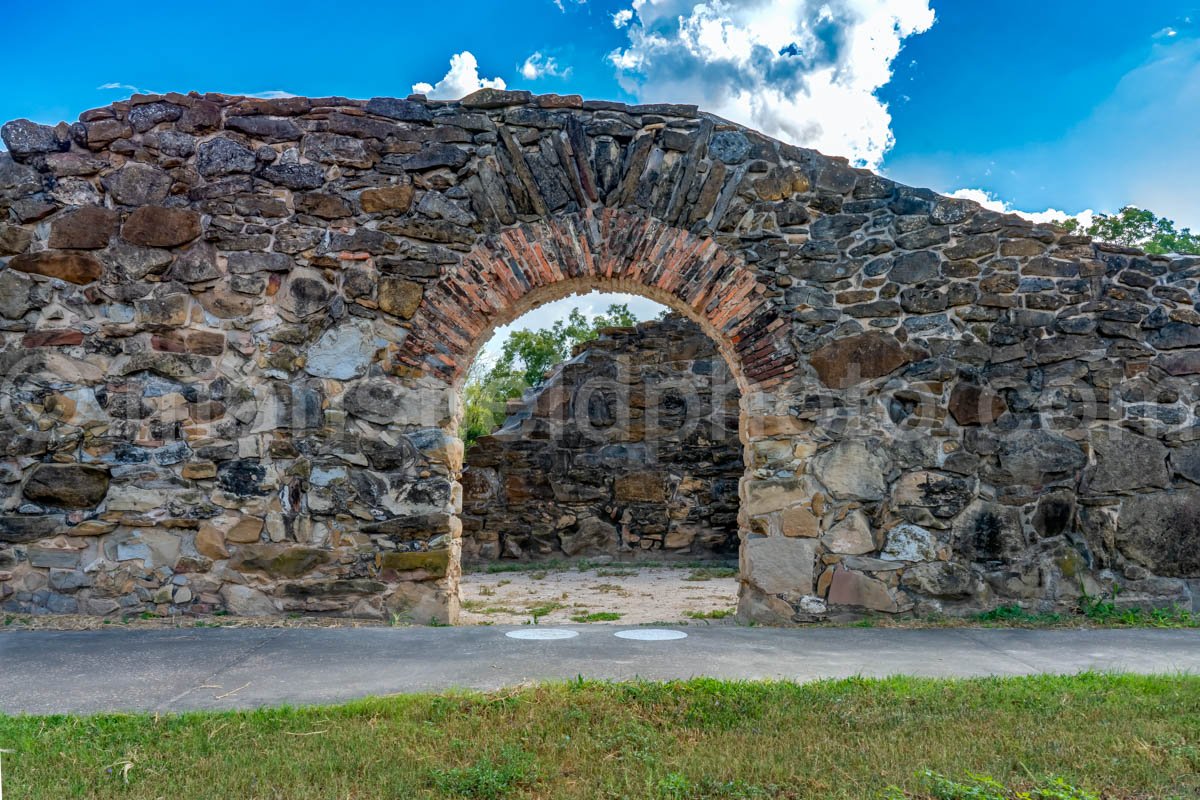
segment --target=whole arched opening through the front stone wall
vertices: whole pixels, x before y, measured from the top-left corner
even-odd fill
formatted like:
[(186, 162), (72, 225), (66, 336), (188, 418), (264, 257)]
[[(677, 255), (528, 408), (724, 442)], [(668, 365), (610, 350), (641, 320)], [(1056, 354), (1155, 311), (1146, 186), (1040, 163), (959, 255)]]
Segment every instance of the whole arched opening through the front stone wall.
[[(732, 613), (742, 393), (698, 325), (638, 300), (592, 293), (538, 305), (510, 327), (523, 327), (506, 349), (497, 347), (503, 335), (493, 337), (472, 366), (460, 423), (468, 441), (460, 621), (637, 624)], [(622, 305), (587, 308), (611, 301)], [(546, 326), (556, 319), (557, 330)], [(538, 372), (556, 333), (576, 343), (562, 347), (563, 360), (544, 375), (504, 359), (523, 353)], [(490, 420), (480, 409), (488, 399), (502, 407)]]

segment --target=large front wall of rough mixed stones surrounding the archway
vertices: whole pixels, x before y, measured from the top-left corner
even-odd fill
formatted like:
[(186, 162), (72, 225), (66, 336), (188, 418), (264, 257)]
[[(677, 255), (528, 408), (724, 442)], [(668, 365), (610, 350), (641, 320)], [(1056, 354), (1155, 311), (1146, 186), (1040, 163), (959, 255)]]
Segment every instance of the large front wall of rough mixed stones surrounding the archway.
[(590, 288), (737, 379), (745, 619), (1200, 590), (1200, 259), (688, 106), (137, 96), (2, 138), (5, 609), (454, 621), (458, 384)]

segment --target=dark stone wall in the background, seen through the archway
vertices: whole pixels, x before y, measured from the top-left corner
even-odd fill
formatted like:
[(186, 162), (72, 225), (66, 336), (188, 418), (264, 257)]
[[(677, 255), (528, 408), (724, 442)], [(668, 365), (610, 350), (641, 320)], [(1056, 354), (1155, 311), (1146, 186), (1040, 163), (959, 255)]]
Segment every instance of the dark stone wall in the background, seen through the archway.
[(736, 559), (739, 399), (682, 317), (580, 345), (467, 451), (463, 559)]

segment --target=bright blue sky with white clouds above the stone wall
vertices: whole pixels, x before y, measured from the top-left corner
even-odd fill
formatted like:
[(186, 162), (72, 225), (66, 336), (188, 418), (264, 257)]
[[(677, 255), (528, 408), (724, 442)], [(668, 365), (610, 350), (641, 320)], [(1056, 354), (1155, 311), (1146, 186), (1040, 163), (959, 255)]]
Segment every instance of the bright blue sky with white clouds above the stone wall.
[[(1200, 228), (1200, 0), (450, 0), (5, 10), (0, 119), (148, 91), (696, 102), (905, 184)], [(451, 67), (451, 58), (455, 66)], [(448, 74), (449, 72), (449, 74)], [(103, 88), (113, 86), (113, 88)], [(545, 307), (544, 307), (545, 309)], [(548, 314), (550, 311), (544, 311)]]

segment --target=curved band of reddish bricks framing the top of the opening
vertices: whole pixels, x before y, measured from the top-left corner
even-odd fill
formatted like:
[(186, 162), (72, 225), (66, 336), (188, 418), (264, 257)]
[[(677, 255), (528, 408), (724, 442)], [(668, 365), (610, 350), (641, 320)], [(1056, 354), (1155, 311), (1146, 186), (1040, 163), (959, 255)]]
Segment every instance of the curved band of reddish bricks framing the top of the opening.
[(401, 361), (457, 384), (497, 327), (590, 289), (644, 295), (697, 321), (743, 391), (769, 389), (796, 367), (785, 319), (739, 255), (712, 237), (616, 209), (552, 216), (481, 239), (426, 290)]

